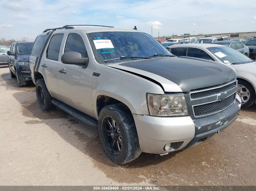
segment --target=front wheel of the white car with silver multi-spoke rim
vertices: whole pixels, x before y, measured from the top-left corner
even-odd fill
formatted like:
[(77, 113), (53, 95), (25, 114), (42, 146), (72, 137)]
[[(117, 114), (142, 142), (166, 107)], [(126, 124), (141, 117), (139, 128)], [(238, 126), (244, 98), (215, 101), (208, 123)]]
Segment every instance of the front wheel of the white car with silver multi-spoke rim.
[(241, 97), (241, 109), (250, 107), (253, 103), (255, 103), (255, 91), (249, 82), (238, 80), (237, 93)]

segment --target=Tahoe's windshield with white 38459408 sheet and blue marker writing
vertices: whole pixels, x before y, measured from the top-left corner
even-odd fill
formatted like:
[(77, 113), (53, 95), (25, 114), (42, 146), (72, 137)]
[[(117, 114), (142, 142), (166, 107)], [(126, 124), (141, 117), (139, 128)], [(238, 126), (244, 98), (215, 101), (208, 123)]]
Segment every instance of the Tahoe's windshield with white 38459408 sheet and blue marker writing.
[[(92, 50), (98, 63), (105, 61), (123, 62), (123, 59), (111, 60), (121, 57), (132, 57), (129, 59), (143, 59), (154, 54), (172, 55), (158, 43), (153, 37), (142, 32), (107, 31), (87, 33)], [(164, 56), (164, 55), (160, 55)]]

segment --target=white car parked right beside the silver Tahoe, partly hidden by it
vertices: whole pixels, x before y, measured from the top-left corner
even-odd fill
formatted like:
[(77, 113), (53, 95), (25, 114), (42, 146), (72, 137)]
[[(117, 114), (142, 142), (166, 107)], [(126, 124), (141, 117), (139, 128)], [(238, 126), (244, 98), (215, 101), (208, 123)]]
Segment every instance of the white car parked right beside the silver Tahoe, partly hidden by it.
[(169, 46), (175, 56), (189, 56), (213, 60), (233, 68), (237, 73), (238, 94), (241, 108), (246, 108), (256, 100), (256, 61), (232, 48), (219, 44), (178, 44)]

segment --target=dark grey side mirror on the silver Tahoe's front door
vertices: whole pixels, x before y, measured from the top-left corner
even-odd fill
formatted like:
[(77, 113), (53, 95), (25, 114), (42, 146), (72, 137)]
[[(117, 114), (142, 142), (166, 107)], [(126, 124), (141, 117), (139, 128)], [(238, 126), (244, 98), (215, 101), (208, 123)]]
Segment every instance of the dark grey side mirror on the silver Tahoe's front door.
[(79, 64), (86, 68), (89, 63), (89, 58), (82, 58), (82, 55), (78, 52), (67, 52), (62, 54), (61, 62), (63, 64)]

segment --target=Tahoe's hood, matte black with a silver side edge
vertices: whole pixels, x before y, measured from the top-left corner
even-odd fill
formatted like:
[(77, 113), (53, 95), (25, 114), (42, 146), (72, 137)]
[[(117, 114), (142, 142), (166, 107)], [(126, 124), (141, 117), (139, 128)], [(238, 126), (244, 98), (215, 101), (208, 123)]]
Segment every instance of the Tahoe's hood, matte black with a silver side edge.
[(158, 57), (108, 66), (151, 78), (166, 92), (189, 92), (236, 78), (236, 73), (228, 66), (187, 57)]

